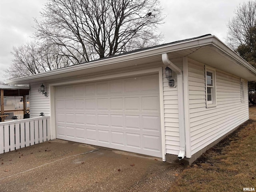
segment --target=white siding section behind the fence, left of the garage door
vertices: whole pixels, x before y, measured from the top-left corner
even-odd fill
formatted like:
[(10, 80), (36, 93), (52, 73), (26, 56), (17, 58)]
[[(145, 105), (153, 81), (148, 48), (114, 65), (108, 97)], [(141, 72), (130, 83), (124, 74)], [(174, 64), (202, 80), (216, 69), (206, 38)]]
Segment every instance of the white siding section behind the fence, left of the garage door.
[(30, 84), (30, 117), (38, 117), (41, 112), (50, 115), (50, 92), (48, 84), (44, 83), (48, 97), (38, 93), (42, 83)]

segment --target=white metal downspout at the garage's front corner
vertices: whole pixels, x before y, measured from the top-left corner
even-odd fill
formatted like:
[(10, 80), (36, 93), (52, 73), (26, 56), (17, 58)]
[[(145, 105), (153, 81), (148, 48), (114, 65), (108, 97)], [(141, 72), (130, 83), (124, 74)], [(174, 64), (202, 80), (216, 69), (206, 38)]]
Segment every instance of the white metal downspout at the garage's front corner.
[(179, 126), (180, 126), (180, 152), (178, 159), (182, 160), (186, 153), (185, 140), (185, 120), (184, 120), (184, 95), (183, 95), (183, 73), (180, 68), (174, 65), (168, 58), (167, 53), (162, 54), (162, 62), (177, 74), (178, 88), (178, 110), (179, 110)]

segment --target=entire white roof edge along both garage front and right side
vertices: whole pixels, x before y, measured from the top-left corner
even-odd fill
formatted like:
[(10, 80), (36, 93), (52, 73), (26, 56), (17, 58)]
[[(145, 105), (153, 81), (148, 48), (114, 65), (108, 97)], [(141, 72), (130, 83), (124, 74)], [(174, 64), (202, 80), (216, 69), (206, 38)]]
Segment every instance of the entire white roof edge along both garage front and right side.
[(6, 80), (5, 83), (7, 83), (7, 84), (18, 84), (20, 82), (24, 83), (28, 80), (38, 79), (38, 78), (46, 77), (46, 76), (52, 76), (54, 74), (64, 74), (64, 73), (68, 73), (71, 71), (77, 71), (77, 70), (92, 68), (92, 67), (97, 67), (97, 66), (104, 66), (104, 65), (113, 64), (113, 63), (117, 63), (117, 62), (124, 62), (124, 61), (128, 61), (128, 60), (135, 60), (135, 59), (144, 58), (144, 57), (148, 57), (148, 56), (153, 56), (153, 55), (158, 55), (158, 54), (163, 54), (163, 53), (168, 53), (168, 52), (174, 52), (174, 51), (184, 50), (184, 49), (188, 49), (188, 48), (206, 46), (206, 45), (210, 45), (210, 44), (212, 44), (219, 50), (223, 51), (228, 56), (234, 58), (236, 61), (238, 61), (238, 63), (241, 66), (244, 66), (245, 68), (247, 68), (250, 72), (252, 72), (256, 76), (256, 69), (254, 67), (252, 67), (248, 62), (246, 62), (238, 54), (236, 54), (236, 52), (234, 52), (232, 49), (230, 49), (228, 46), (226, 46), (226, 44), (224, 44), (216, 36), (208, 34), (208, 35), (204, 35), (204, 36), (199, 36), (197, 38), (190, 38), (190, 39), (186, 39), (186, 40), (163, 44), (160, 46), (154, 46), (154, 47), (138, 50), (135, 52), (128, 52), (128, 53), (113, 56), (113, 57), (108, 57), (108, 58), (104, 58), (104, 59), (100, 59), (100, 60), (94, 60), (91, 62), (79, 64), (79, 65), (69, 66), (66, 68), (60, 68), (57, 70), (52, 70), (52, 71), (48, 71), (48, 72), (44, 72), (44, 73), (34, 74), (34, 75), (16, 78), (16, 79), (12, 79), (12, 80)]

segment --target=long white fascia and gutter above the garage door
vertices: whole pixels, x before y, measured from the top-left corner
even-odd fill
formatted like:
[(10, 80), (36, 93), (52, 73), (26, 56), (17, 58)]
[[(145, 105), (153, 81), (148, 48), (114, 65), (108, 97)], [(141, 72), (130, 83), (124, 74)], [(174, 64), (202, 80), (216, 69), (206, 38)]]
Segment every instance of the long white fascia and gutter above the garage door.
[(124, 62), (124, 61), (128, 61), (128, 60), (145, 58), (148, 56), (154, 56), (154, 55), (158, 55), (158, 54), (162, 54), (162, 53), (166, 53), (166, 52), (173, 52), (173, 51), (183, 50), (183, 49), (187, 49), (187, 48), (204, 46), (207, 44), (211, 44), (212, 38), (214, 38), (214, 36), (206, 36), (206, 37), (202, 37), (202, 38), (198, 38), (198, 39), (188, 40), (186, 42), (178, 42), (178, 43), (174, 43), (174, 44), (168, 44), (166, 46), (160, 46), (160, 47), (156, 47), (156, 48), (152, 48), (152, 49), (146, 49), (146, 50), (142, 50), (139, 52), (133, 52), (130, 54), (124, 54), (121, 56), (106, 58), (103, 60), (96, 60), (96, 61), (92, 61), (89, 63), (69, 66), (66, 68), (61, 68), (61, 69), (57, 69), (57, 70), (40, 73), (40, 74), (34, 74), (34, 75), (26, 76), (26, 77), (16, 78), (16, 79), (12, 79), (12, 80), (6, 80), (5, 83), (15, 84), (15, 83), (19, 83), (19, 82), (25, 82), (26, 80), (33, 80), (33, 79), (38, 79), (41, 77), (52, 76), (55, 74), (64, 74), (64, 73), (68, 73), (71, 71), (74, 72), (77, 70), (92, 68), (92, 67), (96, 67), (96, 66), (104, 66), (104, 65), (114, 64), (114, 63), (118, 63), (118, 62)]

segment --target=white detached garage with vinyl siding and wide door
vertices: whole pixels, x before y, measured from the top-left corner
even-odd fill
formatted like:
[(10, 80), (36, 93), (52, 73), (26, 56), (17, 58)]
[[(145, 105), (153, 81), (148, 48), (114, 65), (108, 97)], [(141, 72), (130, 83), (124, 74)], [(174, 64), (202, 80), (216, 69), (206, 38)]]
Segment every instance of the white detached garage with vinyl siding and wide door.
[(30, 117), (50, 116), (51, 139), (192, 163), (249, 119), (255, 80), (256, 69), (204, 35), (6, 83), (30, 84)]

